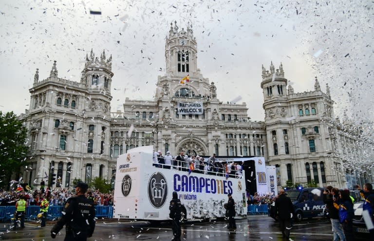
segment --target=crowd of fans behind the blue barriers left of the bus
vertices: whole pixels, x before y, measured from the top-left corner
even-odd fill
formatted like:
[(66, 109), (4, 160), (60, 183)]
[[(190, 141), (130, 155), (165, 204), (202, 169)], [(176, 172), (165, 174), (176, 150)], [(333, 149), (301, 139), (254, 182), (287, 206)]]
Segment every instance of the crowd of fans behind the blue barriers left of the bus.
[[(40, 205), (41, 199), (47, 197), (50, 205), (65, 205), (66, 201), (74, 195), (74, 190), (69, 188), (50, 190), (31, 190), (25, 192), (21, 191), (4, 191), (0, 189), (0, 205), (1, 206), (14, 206), (23, 195), (28, 206)], [(87, 198), (92, 199), (93, 203), (98, 206), (111, 206), (113, 205), (112, 193), (101, 193), (99, 190), (88, 190)]]

